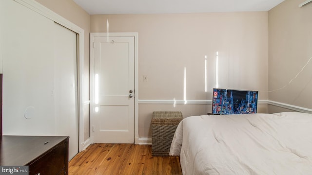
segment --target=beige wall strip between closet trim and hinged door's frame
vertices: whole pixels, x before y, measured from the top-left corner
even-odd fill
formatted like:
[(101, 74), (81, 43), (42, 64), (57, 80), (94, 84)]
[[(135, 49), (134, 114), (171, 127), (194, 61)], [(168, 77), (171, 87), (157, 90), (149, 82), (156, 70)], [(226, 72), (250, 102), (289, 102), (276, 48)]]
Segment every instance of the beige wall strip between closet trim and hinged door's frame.
[[(84, 30), (84, 102), (89, 101), (89, 34), (90, 15), (73, 0), (36, 0)], [(89, 104), (84, 105), (84, 140), (89, 138)]]

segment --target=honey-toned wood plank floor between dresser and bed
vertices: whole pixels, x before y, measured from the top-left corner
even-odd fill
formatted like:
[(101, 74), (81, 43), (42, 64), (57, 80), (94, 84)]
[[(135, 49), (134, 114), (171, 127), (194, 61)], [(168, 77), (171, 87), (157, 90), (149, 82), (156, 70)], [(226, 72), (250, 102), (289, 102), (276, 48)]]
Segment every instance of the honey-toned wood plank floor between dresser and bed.
[(69, 175), (182, 175), (179, 157), (152, 157), (151, 145), (91, 144), (69, 162)]

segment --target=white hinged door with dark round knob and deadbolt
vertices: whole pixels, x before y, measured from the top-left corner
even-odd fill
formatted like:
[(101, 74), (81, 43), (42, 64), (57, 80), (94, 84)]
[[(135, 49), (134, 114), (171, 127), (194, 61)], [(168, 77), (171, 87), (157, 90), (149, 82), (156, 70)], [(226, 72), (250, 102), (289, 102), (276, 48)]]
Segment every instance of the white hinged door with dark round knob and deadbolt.
[(94, 37), (96, 143), (134, 143), (134, 44), (134, 36)]

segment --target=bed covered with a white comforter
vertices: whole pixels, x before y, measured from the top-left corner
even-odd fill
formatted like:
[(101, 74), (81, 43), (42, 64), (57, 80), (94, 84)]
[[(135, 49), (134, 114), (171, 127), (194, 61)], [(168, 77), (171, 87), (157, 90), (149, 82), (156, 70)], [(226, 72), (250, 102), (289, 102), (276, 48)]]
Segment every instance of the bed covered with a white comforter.
[(312, 114), (187, 117), (169, 154), (183, 175), (312, 175)]

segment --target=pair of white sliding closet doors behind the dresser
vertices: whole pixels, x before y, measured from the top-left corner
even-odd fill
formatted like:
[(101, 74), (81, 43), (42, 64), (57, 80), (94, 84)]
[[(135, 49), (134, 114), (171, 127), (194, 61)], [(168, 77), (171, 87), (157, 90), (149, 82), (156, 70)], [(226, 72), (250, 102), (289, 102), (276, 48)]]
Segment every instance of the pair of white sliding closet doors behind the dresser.
[(3, 134), (70, 136), (78, 153), (76, 33), (14, 0), (0, 0)]

